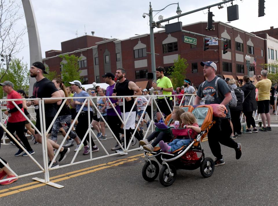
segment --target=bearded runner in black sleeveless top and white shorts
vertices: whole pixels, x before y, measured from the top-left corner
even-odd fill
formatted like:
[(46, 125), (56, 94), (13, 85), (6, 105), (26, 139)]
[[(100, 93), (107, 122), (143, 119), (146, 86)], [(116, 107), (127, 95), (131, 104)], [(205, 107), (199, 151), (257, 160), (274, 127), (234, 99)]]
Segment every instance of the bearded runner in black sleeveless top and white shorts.
[[(123, 68), (116, 70), (116, 78), (119, 80), (115, 84), (115, 90), (111, 96), (139, 96), (142, 95), (142, 91), (140, 88), (133, 82), (129, 81), (125, 78), (126, 71)], [(124, 125), (124, 129), (126, 131), (126, 136), (128, 137), (130, 133), (133, 134), (135, 129), (135, 119), (136, 119), (136, 107), (134, 106), (131, 110), (133, 104), (134, 104), (134, 98), (133, 97), (118, 97), (118, 103), (117, 105), (120, 105), (121, 114), (123, 117), (123, 100), (125, 101), (125, 120), (127, 119), (129, 112), (131, 111), (131, 114), (129, 115), (128, 122), (126, 125)], [(124, 120), (124, 121), (125, 121)], [(139, 141), (142, 140), (140, 134), (138, 131), (136, 131), (134, 135)], [(129, 140), (129, 138), (127, 138)], [(127, 142), (128, 144), (128, 142)], [(116, 153), (121, 153), (121, 155), (127, 155), (126, 152), (123, 152), (122, 149), (116, 150)]]

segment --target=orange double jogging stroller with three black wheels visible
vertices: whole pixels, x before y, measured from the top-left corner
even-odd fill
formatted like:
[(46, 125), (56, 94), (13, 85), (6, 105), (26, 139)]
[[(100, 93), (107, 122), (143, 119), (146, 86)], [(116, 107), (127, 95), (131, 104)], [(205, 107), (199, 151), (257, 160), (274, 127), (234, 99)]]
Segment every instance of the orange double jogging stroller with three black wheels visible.
[[(159, 175), (159, 181), (164, 186), (170, 186), (176, 179), (177, 169), (195, 170), (200, 167), (200, 172), (203, 177), (210, 177), (214, 171), (214, 161), (210, 157), (205, 157), (204, 149), (202, 148), (202, 140), (213, 125), (213, 107), (209, 105), (201, 105), (193, 108), (192, 106), (183, 106), (185, 112), (192, 112), (198, 121), (201, 132), (196, 139), (192, 139), (188, 146), (173, 151), (171, 154), (163, 153), (159, 147), (155, 147), (153, 152), (145, 150), (145, 165), (142, 168), (142, 176), (146, 181), (154, 181)], [(168, 123), (171, 119), (169, 115), (165, 120)], [(173, 128), (169, 128), (168, 132), (172, 137), (178, 134)], [(179, 138), (188, 134), (179, 133)], [(199, 155), (197, 155), (199, 153)], [(200, 156), (200, 157), (199, 157)], [(155, 160), (155, 157), (162, 165), (161, 170)], [(159, 171), (160, 170), (160, 171)]]

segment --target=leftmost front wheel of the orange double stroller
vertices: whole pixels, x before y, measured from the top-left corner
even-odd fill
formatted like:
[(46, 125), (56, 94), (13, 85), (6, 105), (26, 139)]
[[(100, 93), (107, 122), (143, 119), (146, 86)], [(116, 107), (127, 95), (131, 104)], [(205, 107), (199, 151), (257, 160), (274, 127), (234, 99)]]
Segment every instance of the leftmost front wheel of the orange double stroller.
[(151, 164), (149, 161), (147, 161), (142, 168), (142, 176), (148, 182), (154, 181), (159, 174), (158, 163), (154, 160), (151, 160)]

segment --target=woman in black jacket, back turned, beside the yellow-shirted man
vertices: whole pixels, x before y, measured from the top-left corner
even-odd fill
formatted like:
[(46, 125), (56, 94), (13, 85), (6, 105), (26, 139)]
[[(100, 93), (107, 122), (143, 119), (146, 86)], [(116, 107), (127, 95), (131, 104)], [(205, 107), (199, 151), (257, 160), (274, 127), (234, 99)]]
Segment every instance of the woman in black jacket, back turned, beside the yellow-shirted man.
[[(252, 116), (253, 111), (257, 109), (255, 86), (250, 82), (250, 79), (247, 75), (243, 77), (243, 83), (244, 85), (241, 87), (242, 91), (244, 92), (244, 102), (242, 107), (243, 114), (246, 117), (246, 133), (258, 132), (255, 120)], [(253, 127), (252, 131), (251, 125)]]

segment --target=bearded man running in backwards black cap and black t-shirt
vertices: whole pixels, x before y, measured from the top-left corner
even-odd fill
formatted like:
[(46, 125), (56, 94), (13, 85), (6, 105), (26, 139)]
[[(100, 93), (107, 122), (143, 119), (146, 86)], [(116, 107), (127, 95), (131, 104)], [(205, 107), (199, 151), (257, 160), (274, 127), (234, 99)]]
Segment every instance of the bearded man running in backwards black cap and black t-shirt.
[[(49, 79), (45, 78), (43, 76), (43, 73), (47, 74), (45, 70), (45, 66), (41, 62), (34, 62), (30, 68), (30, 76), (36, 78), (36, 83), (34, 84), (33, 89), (33, 96), (34, 98), (58, 98), (61, 97), (61, 94), (58, 92), (57, 88), (55, 87), (54, 83), (50, 81)], [(45, 130), (48, 129), (50, 126), (54, 116), (57, 113), (57, 102), (61, 99), (47, 99), (44, 100), (44, 106), (45, 106)], [(30, 105), (35, 106), (35, 112), (36, 112), (36, 128), (41, 131), (41, 123), (40, 123), (40, 113), (39, 113), (39, 100), (34, 101), (28, 101), (27, 106)], [(51, 132), (52, 128), (49, 132)], [(42, 138), (41, 135), (38, 134), (38, 132), (35, 130), (35, 138), (36, 141), (41, 143)], [(46, 139), (47, 143), (47, 155), (50, 159), (50, 162), (48, 163), (48, 166), (50, 165), (52, 159), (54, 158), (54, 151), (53, 148), (59, 149), (59, 145), (54, 142), (53, 140)], [(60, 158), (59, 162), (62, 162), (67, 154), (69, 153), (69, 148), (62, 147), (60, 150)], [(58, 167), (58, 162), (55, 161), (52, 164), (52, 168)]]

